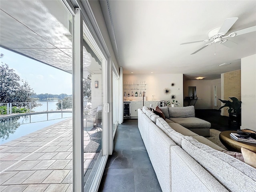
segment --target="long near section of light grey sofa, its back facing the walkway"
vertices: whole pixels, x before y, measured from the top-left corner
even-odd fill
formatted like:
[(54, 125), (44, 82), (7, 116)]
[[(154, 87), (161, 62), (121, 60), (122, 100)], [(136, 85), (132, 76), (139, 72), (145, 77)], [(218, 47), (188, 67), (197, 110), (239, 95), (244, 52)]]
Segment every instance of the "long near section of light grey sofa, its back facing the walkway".
[(255, 192), (256, 168), (147, 107), (138, 128), (163, 192)]

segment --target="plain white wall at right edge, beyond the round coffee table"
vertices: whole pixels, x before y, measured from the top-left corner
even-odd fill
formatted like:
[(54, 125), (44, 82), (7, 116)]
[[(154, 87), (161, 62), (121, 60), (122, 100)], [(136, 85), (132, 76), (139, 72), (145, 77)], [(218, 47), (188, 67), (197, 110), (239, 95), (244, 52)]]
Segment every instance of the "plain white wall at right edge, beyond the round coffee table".
[(241, 59), (241, 129), (256, 131), (256, 54)]

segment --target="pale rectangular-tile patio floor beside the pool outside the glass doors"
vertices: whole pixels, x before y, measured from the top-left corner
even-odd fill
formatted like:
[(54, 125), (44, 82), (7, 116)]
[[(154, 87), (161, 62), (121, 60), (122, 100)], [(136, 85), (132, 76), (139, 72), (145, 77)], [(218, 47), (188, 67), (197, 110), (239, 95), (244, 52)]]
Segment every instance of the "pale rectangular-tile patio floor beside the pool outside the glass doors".
[[(96, 132), (84, 132), (84, 147)], [(84, 153), (84, 182), (97, 157)], [(0, 192), (72, 192), (72, 119), (0, 146)]]

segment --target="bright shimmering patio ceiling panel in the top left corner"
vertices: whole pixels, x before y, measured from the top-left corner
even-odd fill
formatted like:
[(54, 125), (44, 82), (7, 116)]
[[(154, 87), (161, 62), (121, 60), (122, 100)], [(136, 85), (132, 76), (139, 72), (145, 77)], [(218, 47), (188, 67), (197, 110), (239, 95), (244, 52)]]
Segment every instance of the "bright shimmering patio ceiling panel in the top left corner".
[(54, 46), (72, 47), (63, 35), (72, 31), (72, 15), (61, 1), (1, 1), (1, 9)]

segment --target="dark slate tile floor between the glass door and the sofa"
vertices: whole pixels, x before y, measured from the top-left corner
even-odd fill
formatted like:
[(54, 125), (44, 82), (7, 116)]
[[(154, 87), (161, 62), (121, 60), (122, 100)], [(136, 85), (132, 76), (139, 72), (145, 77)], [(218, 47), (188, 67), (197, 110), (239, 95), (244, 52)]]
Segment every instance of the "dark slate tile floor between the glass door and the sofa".
[(118, 125), (114, 151), (102, 176), (98, 191), (161, 192), (154, 168), (138, 130), (138, 120)]

